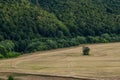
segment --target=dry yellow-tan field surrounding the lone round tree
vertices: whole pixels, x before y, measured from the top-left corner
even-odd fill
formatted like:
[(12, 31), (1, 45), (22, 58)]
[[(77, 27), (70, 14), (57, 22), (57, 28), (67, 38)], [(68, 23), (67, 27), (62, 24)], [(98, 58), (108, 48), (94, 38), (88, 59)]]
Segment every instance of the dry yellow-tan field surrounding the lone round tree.
[(120, 80), (120, 43), (87, 46), (90, 56), (82, 56), (79, 46), (0, 60), (0, 72)]

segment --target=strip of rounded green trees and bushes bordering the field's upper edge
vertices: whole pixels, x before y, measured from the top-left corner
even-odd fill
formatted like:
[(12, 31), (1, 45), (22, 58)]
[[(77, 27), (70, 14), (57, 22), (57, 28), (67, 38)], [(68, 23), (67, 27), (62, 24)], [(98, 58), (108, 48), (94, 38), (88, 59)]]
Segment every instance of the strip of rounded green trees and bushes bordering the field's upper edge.
[[(86, 43), (108, 43), (120, 41), (120, 35), (103, 34), (101, 36), (77, 36), (74, 38), (42, 38), (32, 40), (20, 40), (12, 42), (11, 40), (5, 40), (0, 42), (0, 58), (12, 58), (18, 57), (24, 53), (30, 53), (35, 51), (51, 50), (57, 48), (64, 48), (70, 46), (78, 46)], [(17, 51), (17, 52), (15, 52)]]

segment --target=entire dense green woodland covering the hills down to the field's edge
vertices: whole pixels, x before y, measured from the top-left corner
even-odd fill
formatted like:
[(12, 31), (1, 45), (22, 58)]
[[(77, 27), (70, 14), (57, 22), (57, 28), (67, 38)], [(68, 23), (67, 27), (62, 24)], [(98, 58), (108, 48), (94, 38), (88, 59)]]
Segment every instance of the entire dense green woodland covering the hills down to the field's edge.
[(0, 58), (119, 41), (120, 0), (0, 0)]

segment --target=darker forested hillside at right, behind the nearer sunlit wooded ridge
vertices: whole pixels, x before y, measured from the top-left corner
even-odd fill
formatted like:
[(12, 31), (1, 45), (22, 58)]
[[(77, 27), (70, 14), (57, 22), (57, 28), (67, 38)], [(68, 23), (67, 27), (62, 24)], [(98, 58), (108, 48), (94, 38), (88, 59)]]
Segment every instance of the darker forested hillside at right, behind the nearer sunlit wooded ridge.
[(119, 0), (31, 0), (62, 21), (72, 36), (120, 34)]

